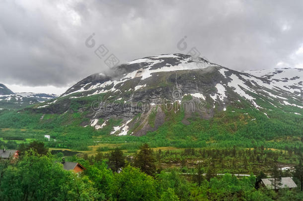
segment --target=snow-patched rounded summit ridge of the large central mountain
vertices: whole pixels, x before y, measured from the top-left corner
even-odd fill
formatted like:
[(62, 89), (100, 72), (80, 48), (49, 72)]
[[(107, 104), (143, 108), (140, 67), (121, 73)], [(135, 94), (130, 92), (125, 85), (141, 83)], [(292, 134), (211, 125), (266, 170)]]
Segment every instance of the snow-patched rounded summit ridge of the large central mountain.
[[(192, 58), (190, 55), (183, 54), (146, 57), (115, 67), (107, 74), (96, 73), (90, 75), (69, 88), (62, 96), (83, 91), (94, 91), (96, 88), (104, 88), (112, 84), (114, 86), (110, 90), (116, 90), (116, 85), (120, 85), (128, 80), (140, 79), (143, 81), (157, 73), (204, 69), (208, 67), (220, 66), (210, 63), (203, 58)], [(90, 95), (105, 93), (107, 91), (94, 91)]]

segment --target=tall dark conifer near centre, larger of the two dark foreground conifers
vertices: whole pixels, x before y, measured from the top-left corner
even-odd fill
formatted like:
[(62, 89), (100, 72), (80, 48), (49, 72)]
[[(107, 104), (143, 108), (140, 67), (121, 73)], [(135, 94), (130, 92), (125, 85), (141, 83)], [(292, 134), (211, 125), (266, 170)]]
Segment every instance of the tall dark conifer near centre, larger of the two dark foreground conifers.
[(153, 150), (145, 143), (140, 147), (140, 151), (135, 158), (135, 166), (140, 168), (142, 172), (148, 175), (155, 174), (155, 158), (153, 156)]

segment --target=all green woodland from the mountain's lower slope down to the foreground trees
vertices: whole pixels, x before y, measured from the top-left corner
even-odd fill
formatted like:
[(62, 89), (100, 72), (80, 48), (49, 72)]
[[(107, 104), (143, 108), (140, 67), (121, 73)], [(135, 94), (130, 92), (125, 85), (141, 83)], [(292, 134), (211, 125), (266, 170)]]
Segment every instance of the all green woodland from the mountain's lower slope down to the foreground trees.
[[(266, 116), (229, 106), (210, 120), (193, 115), (188, 125), (184, 112), (166, 111), (164, 124), (143, 136), (109, 135), (120, 119), (100, 130), (81, 127), (87, 114), (72, 108), (60, 115), (0, 111), (0, 148), (20, 151), (0, 161), (0, 200), (303, 200), (303, 121), (292, 107)], [(154, 119), (155, 112), (150, 125)], [(66, 171), (63, 158), (86, 169)], [(298, 188), (259, 186), (273, 176), (292, 177)]]

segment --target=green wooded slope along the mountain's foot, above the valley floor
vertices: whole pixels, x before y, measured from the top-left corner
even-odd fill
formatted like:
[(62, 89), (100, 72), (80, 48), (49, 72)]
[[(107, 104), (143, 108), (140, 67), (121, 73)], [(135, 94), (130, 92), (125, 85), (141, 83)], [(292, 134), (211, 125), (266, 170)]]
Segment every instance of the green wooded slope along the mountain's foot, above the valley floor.
[[(87, 112), (79, 112), (78, 109), (60, 115), (27, 110), (18, 113), (0, 111), (0, 140), (43, 141), (44, 134), (48, 134), (51, 140), (44, 141), (50, 147), (80, 151), (89, 150), (89, 146), (102, 142), (127, 142), (127, 146), (133, 146), (134, 149), (138, 149), (142, 143), (149, 143), (151, 147), (180, 148), (233, 145), (253, 148), (263, 145), (275, 149), (296, 147), (303, 151), (302, 116), (294, 114), (296, 112), (294, 107), (285, 106), (283, 110), (272, 107), (271, 110), (266, 111), (266, 116), (262, 111), (254, 108), (238, 109), (230, 106), (225, 112), (215, 111), (215, 116), (210, 120), (202, 120), (198, 115), (194, 115), (187, 119), (189, 125), (182, 123), (184, 111), (171, 110), (166, 112), (162, 126), (143, 136), (109, 135), (114, 126), (122, 124), (122, 120), (119, 119), (110, 119), (100, 130), (89, 126), (81, 127), (79, 125), (82, 122), (88, 121)], [(299, 110), (297, 112), (300, 112)], [(151, 125), (154, 118), (152, 115)], [(140, 114), (134, 119), (139, 116)], [(101, 123), (103, 121), (99, 120)], [(136, 125), (132, 129), (136, 130)], [(131, 132), (132, 130), (129, 131)]]

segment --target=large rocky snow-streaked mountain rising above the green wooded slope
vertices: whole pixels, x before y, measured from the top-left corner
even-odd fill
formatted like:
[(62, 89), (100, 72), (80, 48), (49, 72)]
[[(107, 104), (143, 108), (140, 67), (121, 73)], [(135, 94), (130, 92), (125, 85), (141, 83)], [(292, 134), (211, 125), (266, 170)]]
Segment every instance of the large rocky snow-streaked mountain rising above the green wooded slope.
[(175, 116), (183, 125), (197, 118), (212, 120), (216, 114), (236, 109), (268, 119), (281, 112), (301, 116), (302, 89), (303, 70), (299, 68), (236, 71), (203, 58), (172, 54), (134, 60), (106, 74), (90, 75), (56, 100), (26, 110), (77, 113), (82, 127), (106, 130), (107, 134), (144, 135)]

